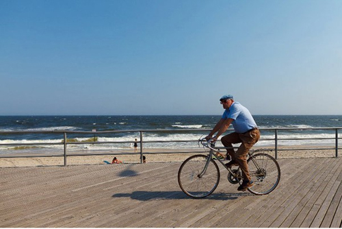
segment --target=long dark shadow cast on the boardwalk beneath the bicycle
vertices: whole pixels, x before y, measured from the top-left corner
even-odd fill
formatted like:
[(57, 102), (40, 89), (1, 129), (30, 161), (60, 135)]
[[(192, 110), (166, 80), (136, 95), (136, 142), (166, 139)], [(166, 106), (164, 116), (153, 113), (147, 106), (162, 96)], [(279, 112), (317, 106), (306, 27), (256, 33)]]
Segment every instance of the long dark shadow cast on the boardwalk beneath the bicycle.
[[(252, 195), (251, 193), (213, 193), (205, 200), (235, 200), (238, 197)], [(133, 200), (187, 200), (192, 199), (183, 193), (183, 191), (133, 191), (133, 193), (116, 193), (113, 198), (131, 197)]]

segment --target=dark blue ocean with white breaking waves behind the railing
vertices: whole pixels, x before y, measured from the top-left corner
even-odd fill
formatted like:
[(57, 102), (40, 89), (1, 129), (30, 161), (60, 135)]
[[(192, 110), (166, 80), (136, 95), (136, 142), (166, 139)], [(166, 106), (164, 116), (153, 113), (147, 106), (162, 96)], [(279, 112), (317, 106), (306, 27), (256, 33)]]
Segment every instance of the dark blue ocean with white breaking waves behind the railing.
[[(298, 130), (281, 130), (279, 138), (334, 138), (334, 130), (300, 130), (300, 128), (333, 128), (342, 127), (342, 115), (254, 115), (261, 129), (267, 128), (298, 128)], [(209, 134), (220, 115), (165, 115), (165, 116), (0, 116), (0, 132), (11, 131), (108, 131), (108, 130), (158, 130), (145, 132), (144, 141), (178, 141), (197, 140)], [(205, 129), (192, 132), (190, 129)], [(168, 130), (183, 130), (168, 132)], [(187, 131), (189, 130), (189, 131)], [(339, 131), (342, 133), (342, 130)], [(341, 136), (339, 133), (339, 136)], [(139, 132), (116, 134), (68, 134), (73, 141), (89, 141), (96, 136), (96, 141), (140, 141)], [(274, 130), (262, 130), (261, 140), (274, 138)], [(61, 143), (63, 134), (0, 134), (0, 144), (8, 143)], [(334, 144), (328, 140), (279, 141), (279, 145), (326, 145)], [(274, 145), (274, 141), (259, 141), (259, 146)], [(0, 145), (0, 154), (32, 151), (53, 152), (62, 149), (62, 145), (38, 145), (36, 147)], [(194, 148), (197, 143), (146, 143), (144, 148)], [(122, 144), (90, 144), (71, 145), (68, 150), (112, 150), (131, 149), (133, 143)]]

